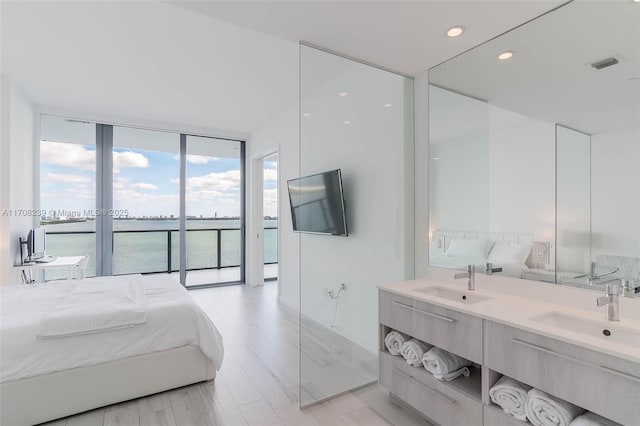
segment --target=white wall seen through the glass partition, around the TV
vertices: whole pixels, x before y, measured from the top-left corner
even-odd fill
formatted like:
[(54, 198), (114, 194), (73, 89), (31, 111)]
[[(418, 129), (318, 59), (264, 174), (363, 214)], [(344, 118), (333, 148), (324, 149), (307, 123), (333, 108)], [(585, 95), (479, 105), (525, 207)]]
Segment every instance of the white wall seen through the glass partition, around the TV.
[(349, 227), (300, 236), (301, 310), (329, 326), (336, 303), (324, 289), (345, 283), (333, 330), (375, 353), (376, 285), (413, 276), (413, 85), (310, 48), (301, 67), (301, 174), (342, 170)]

